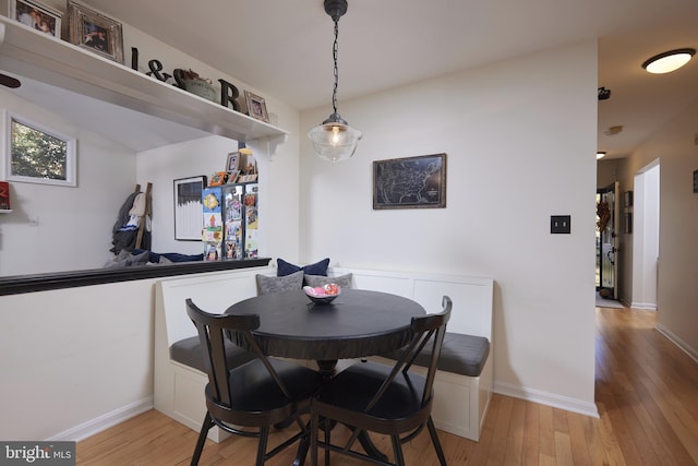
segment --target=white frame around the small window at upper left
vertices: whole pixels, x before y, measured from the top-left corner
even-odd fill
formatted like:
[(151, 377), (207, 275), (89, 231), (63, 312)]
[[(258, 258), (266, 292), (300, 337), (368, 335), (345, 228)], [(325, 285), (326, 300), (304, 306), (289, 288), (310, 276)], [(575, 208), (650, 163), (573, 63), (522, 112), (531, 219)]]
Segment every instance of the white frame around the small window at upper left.
[[(37, 183), (37, 184), (51, 184), (51, 186), (60, 186), (60, 187), (70, 187), (75, 188), (77, 186), (76, 179), (76, 142), (75, 139), (63, 134), (59, 131), (56, 131), (51, 128), (46, 127), (45, 124), (37, 123), (27, 118), (21, 117), (16, 113), (5, 111), (4, 112), (4, 174), (5, 180), (8, 181), (16, 181), (24, 183)], [(40, 131), (45, 134), (48, 134), (52, 138), (59, 139), (65, 143), (65, 179), (64, 180), (53, 180), (49, 178), (37, 178), (37, 177), (25, 177), (21, 175), (12, 174), (12, 121), (16, 121), (20, 124), (25, 127), (29, 127), (33, 130)]]

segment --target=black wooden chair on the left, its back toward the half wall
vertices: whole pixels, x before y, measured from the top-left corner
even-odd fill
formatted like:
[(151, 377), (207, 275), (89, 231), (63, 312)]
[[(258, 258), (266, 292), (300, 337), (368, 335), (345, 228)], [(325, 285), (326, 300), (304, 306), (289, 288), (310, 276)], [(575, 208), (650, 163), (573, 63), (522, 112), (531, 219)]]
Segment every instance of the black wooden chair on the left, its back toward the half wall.
[[(205, 390), (207, 411), (191, 464), (198, 464), (206, 435), (214, 426), (239, 435), (258, 437), (257, 466), (300, 440), (302, 464), (310, 432), (300, 414), (309, 411), (310, 398), (322, 382), (320, 374), (299, 365), (267, 358), (251, 334), (260, 326), (256, 314), (210, 314), (198, 309), (191, 299), (186, 300), (186, 313), (198, 331), (208, 372)], [(225, 351), (225, 345), (231, 344), (230, 337), (245, 342), (256, 358), (242, 366), (230, 367)], [(293, 420), (300, 428), (299, 432), (267, 452), (270, 427), (292, 423)]]

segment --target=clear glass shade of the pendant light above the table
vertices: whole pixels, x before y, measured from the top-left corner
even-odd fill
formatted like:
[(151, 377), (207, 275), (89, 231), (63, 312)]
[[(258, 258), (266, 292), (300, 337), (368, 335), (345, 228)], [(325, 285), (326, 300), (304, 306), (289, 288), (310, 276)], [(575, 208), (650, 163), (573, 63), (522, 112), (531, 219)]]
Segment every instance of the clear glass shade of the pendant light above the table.
[(339, 113), (333, 113), (322, 124), (312, 128), (308, 138), (318, 157), (329, 162), (346, 160), (357, 152), (357, 144), (363, 134), (351, 128)]

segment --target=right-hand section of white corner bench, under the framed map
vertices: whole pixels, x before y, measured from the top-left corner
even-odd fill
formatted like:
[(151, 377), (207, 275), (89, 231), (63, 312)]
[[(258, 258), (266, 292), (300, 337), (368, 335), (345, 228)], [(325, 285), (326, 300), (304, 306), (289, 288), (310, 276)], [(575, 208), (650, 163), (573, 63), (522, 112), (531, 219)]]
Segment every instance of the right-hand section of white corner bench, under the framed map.
[[(438, 312), (444, 295), (454, 302), (434, 381), (432, 417), (436, 428), (478, 441), (494, 382), (492, 299), (494, 280), (460, 275), (330, 268), (351, 273), (354, 288), (411, 298)], [(372, 358), (380, 360), (381, 358)], [(420, 370), (413, 368), (412, 370)]]

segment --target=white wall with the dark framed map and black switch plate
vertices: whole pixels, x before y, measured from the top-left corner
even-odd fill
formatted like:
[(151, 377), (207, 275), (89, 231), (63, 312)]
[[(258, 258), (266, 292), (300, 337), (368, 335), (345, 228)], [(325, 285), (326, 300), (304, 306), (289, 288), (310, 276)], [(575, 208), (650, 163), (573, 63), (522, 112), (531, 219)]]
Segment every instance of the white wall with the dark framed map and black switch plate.
[[(301, 142), (301, 258), (493, 277), (495, 390), (594, 414), (597, 87), (589, 41), (340, 101), (364, 138), (337, 165)], [(373, 160), (442, 152), (446, 208), (372, 210)]]

